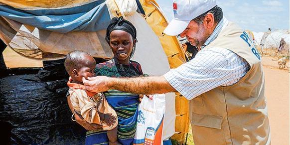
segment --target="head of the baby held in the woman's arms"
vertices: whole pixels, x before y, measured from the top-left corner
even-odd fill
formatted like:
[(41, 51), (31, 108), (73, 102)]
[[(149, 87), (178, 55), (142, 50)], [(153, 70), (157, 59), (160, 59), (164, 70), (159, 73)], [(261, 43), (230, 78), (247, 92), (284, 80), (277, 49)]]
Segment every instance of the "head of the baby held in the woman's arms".
[(76, 83), (82, 84), (83, 77), (95, 76), (96, 61), (90, 54), (76, 50), (66, 55), (64, 67)]

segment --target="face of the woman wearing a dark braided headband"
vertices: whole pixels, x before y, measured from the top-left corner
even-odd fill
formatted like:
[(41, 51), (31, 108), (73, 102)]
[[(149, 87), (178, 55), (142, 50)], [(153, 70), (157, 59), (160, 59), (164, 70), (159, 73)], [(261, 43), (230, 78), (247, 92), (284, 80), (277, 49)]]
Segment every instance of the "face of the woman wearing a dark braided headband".
[(130, 33), (123, 30), (114, 30), (110, 33), (110, 47), (114, 53), (115, 61), (118, 63), (129, 63), (130, 54), (136, 40)]

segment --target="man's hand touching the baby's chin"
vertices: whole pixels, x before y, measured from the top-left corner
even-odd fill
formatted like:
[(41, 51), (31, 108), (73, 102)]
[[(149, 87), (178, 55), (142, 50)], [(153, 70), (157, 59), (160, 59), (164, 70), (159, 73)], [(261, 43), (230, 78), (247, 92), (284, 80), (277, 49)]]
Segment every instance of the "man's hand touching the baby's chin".
[(88, 77), (87, 80), (83, 77), (85, 89), (91, 92), (105, 92), (108, 91), (110, 78), (106, 76)]

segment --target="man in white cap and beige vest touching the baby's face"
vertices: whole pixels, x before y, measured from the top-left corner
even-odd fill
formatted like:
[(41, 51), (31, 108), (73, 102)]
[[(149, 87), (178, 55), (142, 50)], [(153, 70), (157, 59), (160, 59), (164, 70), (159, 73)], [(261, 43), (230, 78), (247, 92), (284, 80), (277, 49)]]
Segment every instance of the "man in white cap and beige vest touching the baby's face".
[(196, 145), (269, 145), (270, 126), (260, 55), (215, 0), (174, 0), (174, 18), (164, 30), (201, 47), (191, 61), (163, 76), (83, 79), (95, 92), (179, 92), (190, 100)]

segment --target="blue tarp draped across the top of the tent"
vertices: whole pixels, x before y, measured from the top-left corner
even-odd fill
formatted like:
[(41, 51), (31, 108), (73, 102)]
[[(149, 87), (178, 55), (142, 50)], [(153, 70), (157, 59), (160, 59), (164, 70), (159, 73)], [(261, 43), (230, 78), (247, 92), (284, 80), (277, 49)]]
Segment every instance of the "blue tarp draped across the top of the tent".
[(8, 5), (0, 5), (0, 15), (39, 29), (67, 33), (70, 31), (98, 31), (106, 29), (110, 14), (106, 0), (68, 8), (35, 8), (21, 10)]

